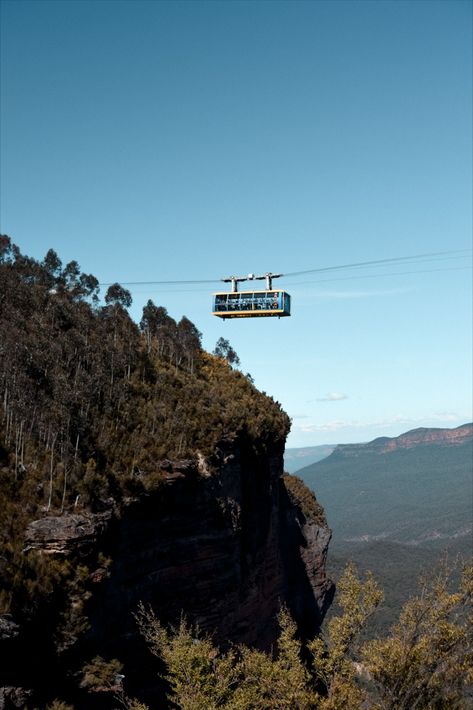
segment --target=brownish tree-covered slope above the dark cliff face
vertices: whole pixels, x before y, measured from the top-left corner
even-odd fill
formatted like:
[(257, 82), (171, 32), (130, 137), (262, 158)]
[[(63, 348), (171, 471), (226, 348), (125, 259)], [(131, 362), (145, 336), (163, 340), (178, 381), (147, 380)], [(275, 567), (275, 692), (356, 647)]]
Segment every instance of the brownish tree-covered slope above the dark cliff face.
[(102, 304), (77, 262), (53, 250), (39, 262), (1, 237), (2, 612), (26, 613), (60, 576), (21, 554), (29, 521), (117, 509), (160, 485), (163, 461), (211, 470), (217, 444), (242, 433), (263, 449), (286, 437), (280, 405), (203, 351), (185, 316), (148, 301), (137, 325), (130, 304), (119, 284)]

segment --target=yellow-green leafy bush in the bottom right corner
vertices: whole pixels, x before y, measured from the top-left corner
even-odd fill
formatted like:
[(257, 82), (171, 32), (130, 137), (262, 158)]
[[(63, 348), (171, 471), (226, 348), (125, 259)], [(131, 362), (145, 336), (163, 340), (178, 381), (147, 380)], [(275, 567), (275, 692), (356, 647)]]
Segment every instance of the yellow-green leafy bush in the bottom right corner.
[(465, 707), (473, 686), (472, 601), (473, 566), (465, 566), (456, 591), (450, 571), (441, 569), (405, 604), (387, 638), (365, 644), (362, 658), (380, 707)]

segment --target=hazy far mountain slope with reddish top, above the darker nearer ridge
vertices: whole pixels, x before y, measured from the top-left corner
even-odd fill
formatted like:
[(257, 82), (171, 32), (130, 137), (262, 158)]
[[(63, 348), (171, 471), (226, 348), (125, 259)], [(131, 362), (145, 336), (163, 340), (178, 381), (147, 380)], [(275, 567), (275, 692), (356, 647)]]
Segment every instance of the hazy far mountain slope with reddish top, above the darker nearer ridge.
[(330, 511), (334, 543), (419, 545), (471, 532), (472, 425), (424, 433), (338, 446), (297, 472)]

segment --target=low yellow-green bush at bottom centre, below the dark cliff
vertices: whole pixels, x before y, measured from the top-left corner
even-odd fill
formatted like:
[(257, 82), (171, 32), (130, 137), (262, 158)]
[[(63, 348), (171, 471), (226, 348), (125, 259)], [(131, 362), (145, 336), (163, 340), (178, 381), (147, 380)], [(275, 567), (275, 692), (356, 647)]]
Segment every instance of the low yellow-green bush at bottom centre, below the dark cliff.
[(221, 653), (210, 637), (188, 626), (185, 619), (178, 628), (166, 629), (143, 606), (137, 620), (152, 652), (166, 664), (169, 700), (183, 710), (308, 710), (313, 706), (316, 695), (308, 685), (296, 626), (286, 610), (279, 616), (276, 659), (245, 646)]

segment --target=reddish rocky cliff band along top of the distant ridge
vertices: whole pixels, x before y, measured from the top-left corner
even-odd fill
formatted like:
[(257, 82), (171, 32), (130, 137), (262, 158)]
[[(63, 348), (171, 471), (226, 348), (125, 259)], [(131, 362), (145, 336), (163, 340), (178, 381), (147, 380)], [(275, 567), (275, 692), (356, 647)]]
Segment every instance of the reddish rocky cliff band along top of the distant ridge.
[(473, 442), (473, 424), (462, 424), (456, 429), (419, 428), (397, 437), (383, 436), (366, 444), (340, 444), (335, 449), (337, 456), (360, 456), (366, 453), (386, 454), (399, 449), (412, 449), (415, 446), (439, 445), (457, 446)]

